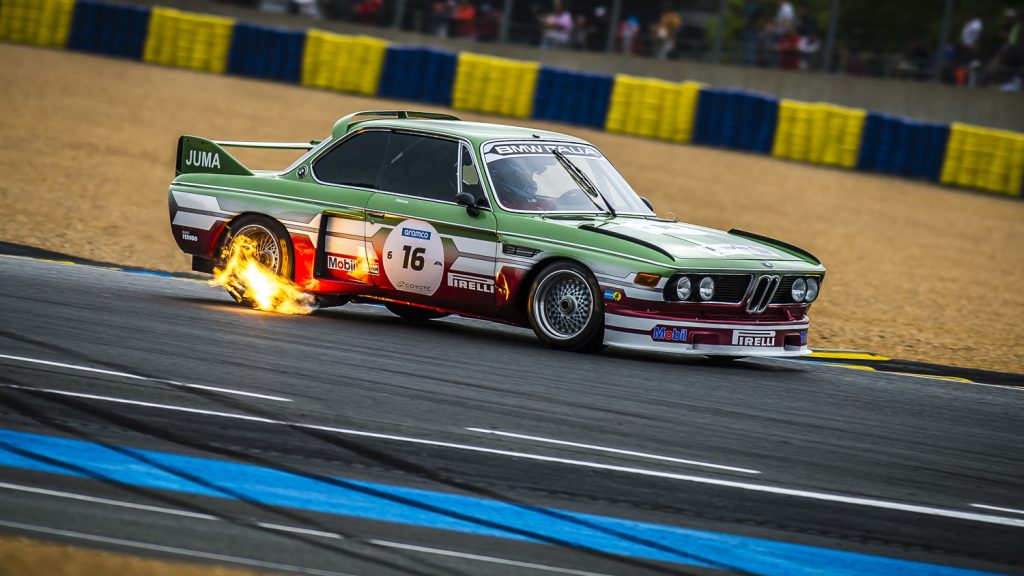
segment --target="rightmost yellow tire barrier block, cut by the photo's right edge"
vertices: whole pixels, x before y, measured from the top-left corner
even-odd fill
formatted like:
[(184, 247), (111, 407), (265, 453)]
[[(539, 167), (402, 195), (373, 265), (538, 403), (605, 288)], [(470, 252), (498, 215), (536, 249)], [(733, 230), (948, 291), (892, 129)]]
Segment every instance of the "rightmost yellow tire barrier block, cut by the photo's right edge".
[(944, 184), (1021, 195), (1024, 134), (954, 122), (942, 163)]

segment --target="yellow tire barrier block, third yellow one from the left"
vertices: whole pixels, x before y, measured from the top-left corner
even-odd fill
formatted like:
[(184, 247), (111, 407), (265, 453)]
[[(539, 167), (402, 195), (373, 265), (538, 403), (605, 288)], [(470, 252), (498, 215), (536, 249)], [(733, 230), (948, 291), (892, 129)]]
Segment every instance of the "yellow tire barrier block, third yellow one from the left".
[(387, 42), (309, 30), (302, 54), (302, 84), (342, 92), (377, 94)]

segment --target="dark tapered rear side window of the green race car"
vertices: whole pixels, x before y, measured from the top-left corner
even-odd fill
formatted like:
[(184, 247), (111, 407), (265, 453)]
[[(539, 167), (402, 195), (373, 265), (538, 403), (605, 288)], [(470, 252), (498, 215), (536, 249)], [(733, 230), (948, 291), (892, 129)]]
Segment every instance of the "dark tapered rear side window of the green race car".
[(331, 149), (313, 164), (313, 173), (325, 182), (377, 188), (388, 132), (371, 130)]

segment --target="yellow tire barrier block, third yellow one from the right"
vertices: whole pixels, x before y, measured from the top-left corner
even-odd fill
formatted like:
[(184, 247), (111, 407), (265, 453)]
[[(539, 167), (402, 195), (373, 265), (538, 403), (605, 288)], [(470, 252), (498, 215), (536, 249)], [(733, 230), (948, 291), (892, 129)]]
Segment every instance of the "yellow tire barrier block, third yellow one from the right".
[(674, 142), (693, 138), (699, 82), (668, 82), (620, 74), (605, 129)]

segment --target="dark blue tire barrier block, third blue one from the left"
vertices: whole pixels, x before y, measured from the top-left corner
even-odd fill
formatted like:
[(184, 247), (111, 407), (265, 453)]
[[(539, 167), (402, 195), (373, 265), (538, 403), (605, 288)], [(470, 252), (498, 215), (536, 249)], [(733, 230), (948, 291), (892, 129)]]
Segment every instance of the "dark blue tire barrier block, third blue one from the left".
[(452, 106), (455, 52), (426, 46), (388, 46), (377, 95)]

